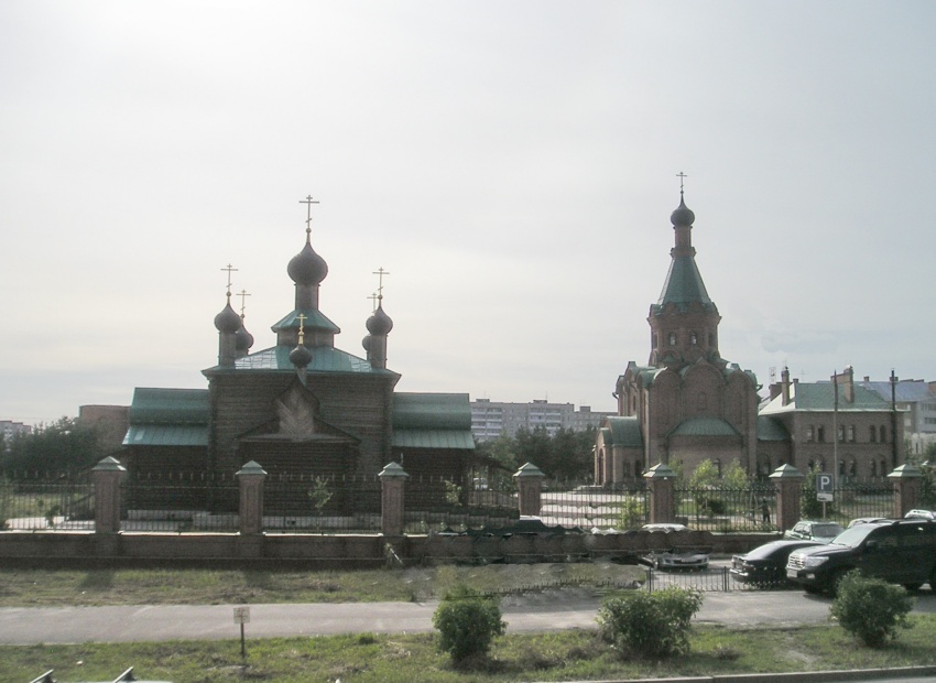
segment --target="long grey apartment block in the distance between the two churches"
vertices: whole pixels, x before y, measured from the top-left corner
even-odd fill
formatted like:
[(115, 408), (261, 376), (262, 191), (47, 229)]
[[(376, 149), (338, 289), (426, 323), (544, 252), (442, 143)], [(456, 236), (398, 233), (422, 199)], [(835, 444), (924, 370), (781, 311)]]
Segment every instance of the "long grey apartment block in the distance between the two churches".
[(611, 412), (592, 411), (590, 405), (575, 410), (573, 403), (549, 403), (541, 399), (530, 403), (502, 403), (490, 399), (471, 401), (471, 434), (475, 441), (497, 438), (501, 434), (513, 436), (521, 429), (543, 427), (549, 435), (559, 429), (581, 431), (598, 426)]

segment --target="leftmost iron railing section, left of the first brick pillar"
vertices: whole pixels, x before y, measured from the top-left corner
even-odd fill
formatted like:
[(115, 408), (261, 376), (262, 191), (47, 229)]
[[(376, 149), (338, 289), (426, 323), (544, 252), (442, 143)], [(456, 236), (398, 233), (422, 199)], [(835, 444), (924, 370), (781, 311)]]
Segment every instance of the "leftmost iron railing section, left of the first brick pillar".
[(95, 489), (87, 473), (3, 473), (0, 530), (94, 530)]

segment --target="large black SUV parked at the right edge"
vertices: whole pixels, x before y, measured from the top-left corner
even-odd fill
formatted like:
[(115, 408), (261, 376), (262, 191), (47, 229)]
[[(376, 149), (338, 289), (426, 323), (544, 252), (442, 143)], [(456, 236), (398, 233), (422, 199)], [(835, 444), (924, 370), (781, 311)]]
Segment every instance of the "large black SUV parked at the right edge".
[(786, 577), (808, 593), (835, 593), (852, 570), (902, 584), (908, 590), (936, 585), (936, 521), (888, 520), (845, 530), (832, 543), (790, 554)]

